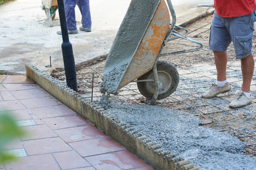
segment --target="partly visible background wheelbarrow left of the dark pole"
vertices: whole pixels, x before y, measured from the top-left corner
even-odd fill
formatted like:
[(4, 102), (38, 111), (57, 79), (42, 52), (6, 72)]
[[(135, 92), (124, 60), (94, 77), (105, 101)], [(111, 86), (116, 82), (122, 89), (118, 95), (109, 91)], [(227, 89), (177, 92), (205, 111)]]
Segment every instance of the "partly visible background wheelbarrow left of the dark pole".
[(54, 20), (56, 11), (58, 10), (57, 0), (42, 0), (42, 10), (45, 11), (48, 25), (52, 27), (52, 20)]

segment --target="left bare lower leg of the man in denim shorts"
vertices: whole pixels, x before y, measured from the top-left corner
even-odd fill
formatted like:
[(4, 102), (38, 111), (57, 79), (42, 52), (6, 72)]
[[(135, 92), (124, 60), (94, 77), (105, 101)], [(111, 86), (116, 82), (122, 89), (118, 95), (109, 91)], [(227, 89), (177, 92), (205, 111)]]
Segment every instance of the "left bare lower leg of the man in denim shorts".
[(224, 81), (227, 80), (226, 76), (226, 69), (227, 69), (227, 52), (217, 52), (213, 51), (214, 53), (214, 61), (217, 70), (217, 81)]

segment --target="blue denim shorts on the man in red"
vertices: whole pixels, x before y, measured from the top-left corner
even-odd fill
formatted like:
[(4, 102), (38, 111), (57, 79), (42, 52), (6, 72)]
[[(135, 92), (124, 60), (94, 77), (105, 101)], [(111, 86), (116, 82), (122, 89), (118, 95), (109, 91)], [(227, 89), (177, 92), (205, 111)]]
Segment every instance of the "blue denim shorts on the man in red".
[(252, 39), (256, 10), (252, 14), (236, 18), (223, 18), (214, 13), (212, 18), (209, 49), (226, 51), (234, 44), (236, 59), (243, 59), (252, 53)]

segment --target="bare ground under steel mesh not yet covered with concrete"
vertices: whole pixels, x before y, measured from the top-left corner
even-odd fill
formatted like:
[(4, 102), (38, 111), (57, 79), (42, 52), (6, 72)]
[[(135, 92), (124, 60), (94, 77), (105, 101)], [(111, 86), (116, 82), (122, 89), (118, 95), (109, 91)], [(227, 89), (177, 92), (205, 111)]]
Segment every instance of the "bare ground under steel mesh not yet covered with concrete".
[[(177, 90), (170, 97), (157, 101), (156, 104), (196, 115), (202, 121), (201, 125), (236, 136), (246, 144), (246, 152), (244, 154), (256, 156), (255, 99), (253, 98), (252, 104), (244, 108), (235, 110), (228, 108), (228, 103), (239, 93), (242, 80), (240, 62), (235, 59), (232, 45), (228, 48), (227, 66), (227, 74), (232, 90), (213, 99), (202, 99), (200, 97), (200, 94), (207, 90), (216, 78), (213, 55), (211, 50), (208, 49), (211, 18), (212, 15), (209, 15), (186, 25), (186, 29), (189, 30), (188, 38), (202, 43), (204, 45), (202, 50), (166, 55), (160, 58), (160, 60), (166, 60), (177, 68), (180, 82)], [(253, 47), (255, 45), (256, 41), (253, 38)], [(195, 48), (198, 48), (198, 45), (191, 43), (191, 41), (175, 39), (169, 41), (164, 46), (162, 54)], [(255, 49), (253, 49), (253, 55), (255, 55)], [(99, 101), (102, 95), (99, 89), (106, 57), (107, 55), (102, 55), (95, 60), (77, 65), (79, 93), (93, 102)], [(65, 83), (63, 70), (53, 71), (52, 76)], [(254, 76), (252, 81), (253, 94), (256, 94), (255, 90)], [(118, 91), (117, 96), (111, 96), (111, 98), (138, 104), (146, 103), (145, 97), (141, 96), (140, 92), (138, 92), (136, 82), (129, 83)]]

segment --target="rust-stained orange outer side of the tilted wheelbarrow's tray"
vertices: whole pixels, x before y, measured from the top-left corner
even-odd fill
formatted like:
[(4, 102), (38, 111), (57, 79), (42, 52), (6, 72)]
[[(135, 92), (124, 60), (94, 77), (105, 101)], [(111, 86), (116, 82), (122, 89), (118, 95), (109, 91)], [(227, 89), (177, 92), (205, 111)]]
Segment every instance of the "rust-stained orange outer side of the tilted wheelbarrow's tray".
[(169, 27), (169, 11), (164, 1), (161, 1), (118, 89), (152, 69)]

